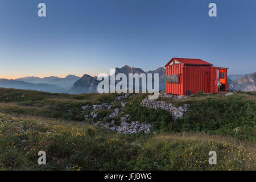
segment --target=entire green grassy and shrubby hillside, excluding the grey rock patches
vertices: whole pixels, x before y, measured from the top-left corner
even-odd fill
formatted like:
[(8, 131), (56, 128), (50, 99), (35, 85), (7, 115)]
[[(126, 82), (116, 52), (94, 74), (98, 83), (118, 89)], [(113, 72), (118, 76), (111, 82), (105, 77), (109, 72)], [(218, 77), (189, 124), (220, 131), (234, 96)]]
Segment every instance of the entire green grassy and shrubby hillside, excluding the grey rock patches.
[[(118, 94), (53, 94), (0, 88), (0, 170), (255, 170), (255, 93), (197, 94), (174, 120), (161, 109), (140, 105), (145, 94), (127, 100), (124, 114), (152, 123), (150, 134), (118, 134), (82, 123), (81, 105), (113, 103)], [(105, 117), (110, 110), (101, 110)], [(38, 151), (47, 164), (39, 166)], [(217, 165), (209, 165), (209, 151)]]

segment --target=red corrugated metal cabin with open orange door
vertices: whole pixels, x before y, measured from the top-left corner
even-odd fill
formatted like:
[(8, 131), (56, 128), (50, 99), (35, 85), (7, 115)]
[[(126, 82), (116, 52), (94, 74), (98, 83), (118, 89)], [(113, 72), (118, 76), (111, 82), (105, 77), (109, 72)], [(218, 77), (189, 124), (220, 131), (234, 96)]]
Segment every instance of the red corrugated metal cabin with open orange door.
[(201, 59), (174, 57), (164, 67), (166, 93), (224, 93), (228, 88), (228, 68), (213, 67)]

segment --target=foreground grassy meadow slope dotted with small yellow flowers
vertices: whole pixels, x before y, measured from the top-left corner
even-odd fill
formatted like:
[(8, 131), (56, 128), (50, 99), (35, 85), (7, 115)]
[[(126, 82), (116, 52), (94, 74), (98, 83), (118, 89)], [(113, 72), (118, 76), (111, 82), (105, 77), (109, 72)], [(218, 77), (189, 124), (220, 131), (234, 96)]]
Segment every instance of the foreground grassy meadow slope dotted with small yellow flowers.
[[(76, 121), (2, 113), (0, 125), (1, 170), (255, 170), (254, 143), (229, 137), (123, 135)], [(46, 165), (38, 165), (40, 150)], [(217, 165), (208, 163), (212, 150)]]

